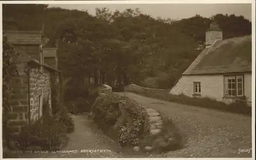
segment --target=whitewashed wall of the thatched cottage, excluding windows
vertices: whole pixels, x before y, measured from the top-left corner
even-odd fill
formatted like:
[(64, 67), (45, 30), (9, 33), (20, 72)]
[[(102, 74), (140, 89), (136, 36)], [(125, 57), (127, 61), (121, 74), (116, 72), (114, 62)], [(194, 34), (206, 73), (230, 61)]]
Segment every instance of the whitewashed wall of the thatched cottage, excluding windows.
[[(179, 82), (170, 90), (169, 94), (184, 94), (193, 97), (194, 82), (201, 82), (201, 96), (214, 98), (226, 103), (232, 99), (223, 99), (223, 75), (190, 75), (182, 76)], [(244, 74), (244, 95), (251, 101), (251, 74)]]

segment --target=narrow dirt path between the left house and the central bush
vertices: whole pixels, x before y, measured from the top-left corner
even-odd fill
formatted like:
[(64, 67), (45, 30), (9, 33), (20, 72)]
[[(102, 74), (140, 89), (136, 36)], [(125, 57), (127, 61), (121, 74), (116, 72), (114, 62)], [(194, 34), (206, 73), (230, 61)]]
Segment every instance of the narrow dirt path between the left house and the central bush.
[[(123, 157), (120, 148), (113, 140), (104, 135), (86, 114), (72, 116), (75, 123), (74, 132), (68, 134), (69, 142), (61, 150), (71, 153), (51, 152), (35, 154), (23, 153), (18, 157), (26, 158), (100, 158)], [(24, 152), (24, 151), (23, 151)], [(72, 153), (73, 152), (73, 153)]]

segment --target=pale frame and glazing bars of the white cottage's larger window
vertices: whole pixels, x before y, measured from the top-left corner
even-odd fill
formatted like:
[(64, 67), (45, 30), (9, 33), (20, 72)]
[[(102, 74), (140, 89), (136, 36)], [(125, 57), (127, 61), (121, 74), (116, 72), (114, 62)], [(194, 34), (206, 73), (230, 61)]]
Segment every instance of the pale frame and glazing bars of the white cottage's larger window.
[[(226, 90), (230, 90), (228, 87), (228, 84), (230, 83), (226, 83), (225, 82), (225, 78), (228, 77), (235, 77), (235, 86), (236, 88), (234, 88), (236, 95), (232, 96), (232, 95), (226, 95)], [(241, 78), (242, 82), (238, 82), (238, 79)], [(238, 83), (242, 83), (242, 95), (238, 95)], [(226, 84), (227, 84), (227, 89), (226, 89)], [(223, 76), (223, 95), (224, 97), (229, 97), (229, 98), (241, 98), (244, 97), (244, 75), (224, 75)]]

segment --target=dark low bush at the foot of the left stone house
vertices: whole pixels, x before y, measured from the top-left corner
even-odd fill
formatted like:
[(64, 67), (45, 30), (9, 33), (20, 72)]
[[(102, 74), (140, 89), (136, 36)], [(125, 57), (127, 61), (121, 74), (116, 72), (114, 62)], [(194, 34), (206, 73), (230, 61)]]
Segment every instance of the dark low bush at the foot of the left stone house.
[(17, 142), (23, 149), (29, 146), (40, 146), (51, 149), (66, 141), (67, 127), (56, 117), (44, 116), (32, 125), (25, 126), (18, 136)]

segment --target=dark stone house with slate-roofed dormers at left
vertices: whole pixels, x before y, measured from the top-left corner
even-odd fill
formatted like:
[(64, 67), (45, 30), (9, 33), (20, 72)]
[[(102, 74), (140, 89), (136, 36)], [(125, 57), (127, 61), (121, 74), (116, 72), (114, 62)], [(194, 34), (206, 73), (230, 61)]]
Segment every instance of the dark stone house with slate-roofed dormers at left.
[[(19, 76), (13, 79), (14, 94), (10, 99), (11, 110), (7, 113), (10, 134), (18, 134), (22, 126), (32, 124), (46, 111), (51, 113), (52, 86), (58, 86), (52, 82), (59, 82), (61, 72), (49, 55), (44, 57), (41, 32), (4, 31), (3, 36), (4, 41), (20, 54), (16, 59)], [(54, 54), (51, 57), (55, 59), (56, 49)]]

